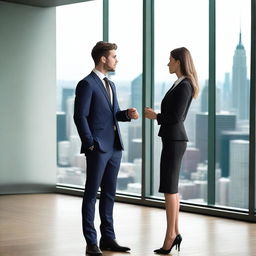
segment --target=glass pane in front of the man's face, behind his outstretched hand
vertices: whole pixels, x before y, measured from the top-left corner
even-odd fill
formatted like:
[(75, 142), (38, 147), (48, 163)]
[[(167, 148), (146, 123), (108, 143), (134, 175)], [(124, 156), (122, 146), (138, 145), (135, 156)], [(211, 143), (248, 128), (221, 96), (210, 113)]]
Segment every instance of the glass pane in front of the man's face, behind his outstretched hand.
[[(109, 41), (118, 46), (116, 72), (111, 75), (120, 109), (137, 108), (142, 116), (142, 1), (109, 1)], [(141, 193), (141, 118), (120, 122), (124, 143), (117, 190)]]

